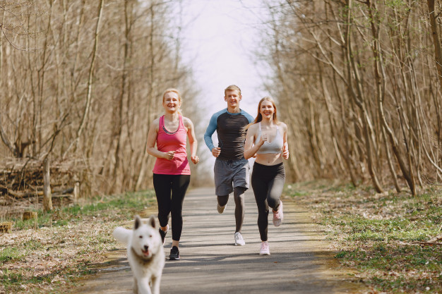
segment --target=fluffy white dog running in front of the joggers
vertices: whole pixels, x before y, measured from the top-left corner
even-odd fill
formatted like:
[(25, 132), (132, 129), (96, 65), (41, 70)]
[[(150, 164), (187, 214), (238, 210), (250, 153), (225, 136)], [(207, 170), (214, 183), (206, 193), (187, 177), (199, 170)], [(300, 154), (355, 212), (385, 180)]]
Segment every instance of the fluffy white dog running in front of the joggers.
[(140, 216), (135, 216), (133, 230), (119, 226), (114, 230), (114, 237), (127, 245), (127, 258), (134, 278), (133, 293), (159, 294), (165, 252), (155, 218), (150, 216), (145, 224)]

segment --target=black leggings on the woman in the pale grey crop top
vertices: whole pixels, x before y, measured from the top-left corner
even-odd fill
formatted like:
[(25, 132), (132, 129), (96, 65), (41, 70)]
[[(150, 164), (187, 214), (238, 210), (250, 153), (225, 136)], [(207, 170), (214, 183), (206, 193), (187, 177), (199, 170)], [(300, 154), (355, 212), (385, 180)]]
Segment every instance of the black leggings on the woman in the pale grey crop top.
[(277, 211), (285, 183), (284, 164), (265, 166), (255, 162), (251, 173), (251, 187), (258, 206), (258, 229), (261, 241), (267, 241), (268, 207)]

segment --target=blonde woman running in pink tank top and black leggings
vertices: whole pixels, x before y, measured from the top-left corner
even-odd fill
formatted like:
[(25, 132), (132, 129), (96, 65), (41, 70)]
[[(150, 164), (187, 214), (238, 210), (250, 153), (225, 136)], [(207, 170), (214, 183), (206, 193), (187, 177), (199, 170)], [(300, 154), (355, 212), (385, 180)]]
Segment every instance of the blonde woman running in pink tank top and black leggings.
[[(165, 114), (150, 125), (148, 154), (157, 157), (153, 168), (153, 187), (157, 196), (158, 221), (163, 244), (172, 216), (172, 249), (169, 259), (179, 259), (179, 239), (183, 228), (182, 207), (191, 179), (191, 170), (186, 153), (189, 137), (191, 161), (197, 164), (196, 136), (193, 123), (181, 116), (181, 95), (176, 89), (167, 89), (162, 95)], [(155, 147), (156, 144), (156, 147)]]

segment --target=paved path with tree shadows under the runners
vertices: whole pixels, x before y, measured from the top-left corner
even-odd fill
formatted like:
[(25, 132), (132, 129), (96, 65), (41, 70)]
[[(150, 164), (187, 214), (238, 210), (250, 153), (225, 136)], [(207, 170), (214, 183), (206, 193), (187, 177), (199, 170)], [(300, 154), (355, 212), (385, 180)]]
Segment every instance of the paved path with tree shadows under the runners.
[[(215, 188), (189, 190), (184, 200), (181, 260), (166, 261), (162, 294), (366, 293), (361, 285), (350, 282), (349, 272), (335, 262), (335, 253), (328, 250), (309, 212), (287, 198), (282, 198), (281, 226), (273, 226), (269, 214), (270, 255), (258, 255), (258, 211), (253, 192), (248, 190), (245, 197), (242, 235), (246, 245), (235, 246), (233, 195), (225, 212), (218, 214)], [(166, 236), (167, 258), (171, 236), (171, 232)], [(132, 293), (133, 278), (124, 247), (111, 252), (109, 261), (97, 275), (80, 281), (72, 293)]]

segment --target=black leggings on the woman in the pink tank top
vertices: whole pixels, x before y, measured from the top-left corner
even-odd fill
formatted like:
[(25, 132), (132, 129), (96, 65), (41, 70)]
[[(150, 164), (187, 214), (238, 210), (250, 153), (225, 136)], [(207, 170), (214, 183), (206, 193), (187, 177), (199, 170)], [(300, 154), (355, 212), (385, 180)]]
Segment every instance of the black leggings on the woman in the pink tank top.
[(160, 226), (169, 223), (172, 214), (172, 240), (179, 241), (183, 229), (183, 202), (191, 181), (190, 175), (153, 174), (153, 188), (157, 195)]

